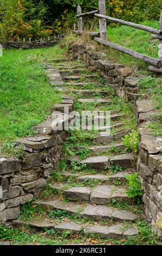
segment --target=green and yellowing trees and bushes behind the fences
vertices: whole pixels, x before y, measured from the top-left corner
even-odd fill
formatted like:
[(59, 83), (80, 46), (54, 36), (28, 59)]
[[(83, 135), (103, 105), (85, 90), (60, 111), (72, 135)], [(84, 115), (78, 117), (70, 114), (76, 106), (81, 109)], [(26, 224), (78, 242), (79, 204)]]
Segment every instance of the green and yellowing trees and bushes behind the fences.
[[(98, 0), (1, 0), (0, 32), (3, 39), (16, 39), (17, 36), (40, 38), (72, 30), (76, 22), (78, 3), (82, 11), (98, 8)], [(144, 20), (159, 20), (161, 0), (106, 0), (107, 14), (119, 19), (141, 22)], [(98, 27), (98, 19), (84, 17), (84, 26)], [(94, 23), (94, 25), (92, 25)], [(116, 23), (108, 22), (110, 26)]]

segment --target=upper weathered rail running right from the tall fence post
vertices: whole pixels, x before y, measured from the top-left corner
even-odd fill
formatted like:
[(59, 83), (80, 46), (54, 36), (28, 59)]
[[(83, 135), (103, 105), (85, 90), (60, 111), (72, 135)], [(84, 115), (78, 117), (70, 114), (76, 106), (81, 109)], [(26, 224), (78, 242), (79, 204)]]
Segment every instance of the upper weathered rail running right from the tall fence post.
[(102, 19), (105, 19), (105, 20), (118, 22), (118, 23), (121, 23), (121, 24), (126, 25), (126, 26), (130, 26), (130, 27), (133, 27), (133, 28), (142, 29), (142, 30), (147, 31), (147, 32), (152, 33), (152, 34), (162, 35), (162, 31), (160, 31), (158, 29), (155, 29), (155, 28), (147, 27), (147, 26), (136, 24), (136, 23), (129, 22), (129, 21), (116, 19), (116, 18), (113, 18), (113, 17), (101, 15), (101, 14), (95, 14), (95, 16), (99, 17), (99, 18), (102, 18)]

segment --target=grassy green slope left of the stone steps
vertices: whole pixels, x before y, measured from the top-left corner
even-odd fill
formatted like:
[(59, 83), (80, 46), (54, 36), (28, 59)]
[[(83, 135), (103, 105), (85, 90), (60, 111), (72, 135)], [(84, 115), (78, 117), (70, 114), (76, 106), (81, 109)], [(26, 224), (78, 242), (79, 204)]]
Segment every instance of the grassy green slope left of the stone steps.
[(0, 63), (0, 143), (31, 134), (60, 96), (49, 86), (44, 65), (64, 50), (4, 50)]

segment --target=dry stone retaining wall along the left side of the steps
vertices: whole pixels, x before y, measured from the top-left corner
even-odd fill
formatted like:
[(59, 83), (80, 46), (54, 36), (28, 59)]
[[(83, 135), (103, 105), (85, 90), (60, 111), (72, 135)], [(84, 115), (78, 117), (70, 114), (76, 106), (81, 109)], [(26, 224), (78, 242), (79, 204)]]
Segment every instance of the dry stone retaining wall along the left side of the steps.
[[(51, 84), (54, 81), (62, 82), (59, 72), (52, 65), (47, 65), (47, 72)], [(15, 142), (17, 147), (23, 144), (25, 155), (22, 160), (0, 156), (0, 221), (17, 218), (20, 205), (38, 197), (39, 192), (51, 181), (68, 136), (64, 131), (69, 121), (68, 115), (60, 111), (65, 106), (66, 95), (62, 98), (61, 104), (53, 106), (55, 111), (35, 127), (37, 136)], [(69, 107), (73, 108), (73, 100)]]

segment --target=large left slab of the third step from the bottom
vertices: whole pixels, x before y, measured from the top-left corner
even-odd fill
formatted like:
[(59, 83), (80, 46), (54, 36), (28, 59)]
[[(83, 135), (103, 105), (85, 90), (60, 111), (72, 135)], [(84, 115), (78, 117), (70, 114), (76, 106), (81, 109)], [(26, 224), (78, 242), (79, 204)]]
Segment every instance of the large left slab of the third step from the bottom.
[(89, 201), (92, 189), (89, 187), (71, 187), (64, 190), (63, 194), (66, 198), (74, 201)]

